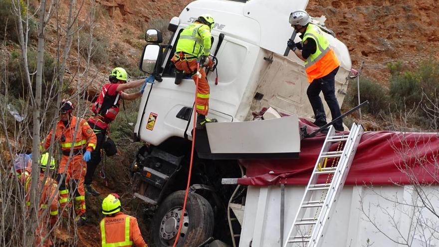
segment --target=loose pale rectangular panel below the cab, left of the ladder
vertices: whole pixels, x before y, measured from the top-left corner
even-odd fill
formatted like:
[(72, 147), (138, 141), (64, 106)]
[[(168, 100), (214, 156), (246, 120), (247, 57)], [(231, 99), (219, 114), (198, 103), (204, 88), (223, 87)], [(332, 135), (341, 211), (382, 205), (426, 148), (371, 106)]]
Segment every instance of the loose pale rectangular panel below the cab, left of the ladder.
[(298, 153), (297, 116), (206, 125), (212, 153)]

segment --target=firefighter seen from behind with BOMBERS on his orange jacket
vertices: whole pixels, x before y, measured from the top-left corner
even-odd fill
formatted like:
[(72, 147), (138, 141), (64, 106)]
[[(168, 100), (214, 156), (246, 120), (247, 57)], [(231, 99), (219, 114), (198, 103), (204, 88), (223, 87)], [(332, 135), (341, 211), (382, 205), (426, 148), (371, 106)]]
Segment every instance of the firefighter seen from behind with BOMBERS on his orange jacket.
[(136, 218), (120, 212), (117, 194), (110, 194), (102, 201), (101, 229), (102, 247), (148, 247), (140, 234)]

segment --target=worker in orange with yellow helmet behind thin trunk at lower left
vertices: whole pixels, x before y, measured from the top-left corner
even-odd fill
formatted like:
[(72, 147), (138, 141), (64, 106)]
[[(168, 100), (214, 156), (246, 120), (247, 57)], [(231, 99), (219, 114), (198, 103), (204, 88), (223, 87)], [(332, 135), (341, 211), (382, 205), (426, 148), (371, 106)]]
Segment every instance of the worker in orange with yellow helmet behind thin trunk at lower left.
[[(30, 160), (30, 159), (28, 159)], [(31, 160), (30, 160), (31, 161)], [(35, 229), (34, 246), (50, 247), (53, 246), (52, 240), (48, 234), (58, 221), (58, 184), (50, 176), (44, 178), (44, 172), (49, 163), (49, 154), (41, 155), (40, 159), (40, 174), (38, 188), (42, 187), (41, 197), (39, 200), (38, 210), (38, 225)], [(16, 168), (15, 168), (16, 169)], [(55, 170), (55, 160), (50, 161), (49, 169)], [(30, 184), (31, 184), (31, 168), (26, 166), (24, 169), (15, 170), (18, 180), (24, 187), (26, 206), (30, 206)], [(44, 181), (45, 180), (45, 181)], [(43, 184), (44, 182), (44, 184)], [(49, 228), (50, 227), (50, 228)]]

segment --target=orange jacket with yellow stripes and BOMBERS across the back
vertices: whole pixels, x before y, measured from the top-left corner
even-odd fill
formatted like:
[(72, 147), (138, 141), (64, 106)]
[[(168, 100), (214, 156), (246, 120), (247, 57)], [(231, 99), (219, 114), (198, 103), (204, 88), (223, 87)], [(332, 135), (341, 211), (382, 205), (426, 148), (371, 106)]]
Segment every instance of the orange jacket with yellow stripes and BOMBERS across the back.
[(148, 247), (140, 234), (136, 218), (121, 212), (105, 217), (100, 225), (102, 247)]

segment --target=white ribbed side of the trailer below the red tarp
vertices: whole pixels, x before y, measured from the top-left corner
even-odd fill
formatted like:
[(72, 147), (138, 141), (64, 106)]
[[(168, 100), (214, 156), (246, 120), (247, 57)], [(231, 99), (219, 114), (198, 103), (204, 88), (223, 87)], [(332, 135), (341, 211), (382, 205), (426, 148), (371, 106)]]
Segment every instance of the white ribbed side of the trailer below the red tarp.
[[(292, 224), (299, 207), (299, 198), (303, 195), (304, 189), (305, 186), (285, 187), (285, 209), (289, 209), (285, 211), (285, 226)], [(432, 205), (439, 205), (438, 189), (437, 185), (423, 187), (423, 190), (429, 195)], [(267, 196), (262, 198), (262, 195)], [(264, 204), (259, 200), (268, 203)], [(400, 204), (395, 204), (394, 201), (399, 201)], [(429, 232), (438, 235), (439, 219), (425, 208), (414, 210), (413, 207), (407, 206), (419, 206), (419, 203), (419, 198), (412, 186), (345, 186), (334, 206), (334, 214), (329, 219), (328, 231), (322, 239), (322, 246), (361, 247), (367, 246), (368, 240), (370, 244), (373, 244), (372, 246), (403, 246), (389, 238), (400, 242), (404, 241), (403, 238), (413, 239), (412, 247), (438, 246), (439, 239), (431, 238), (432, 234)], [(261, 209), (260, 207), (264, 207), (264, 205), (266, 208)], [(360, 210), (362, 207), (383, 233), (380, 233), (368, 221), (366, 215)], [(257, 215), (257, 212), (265, 212), (265, 215)], [(262, 243), (260, 246), (280, 246), (279, 212), (280, 186), (248, 186), (239, 246), (249, 246), (249, 243), (251, 241), (254, 243), (256, 239), (260, 239), (260, 243)], [(262, 230), (259, 229), (261, 219), (266, 221)], [(421, 221), (416, 222), (417, 220)], [(431, 226), (436, 226), (436, 230), (427, 230), (426, 221), (430, 221)], [(418, 224), (416, 234), (414, 234), (414, 224)], [(261, 236), (254, 236), (256, 228), (258, 229), (256, 233), (261, 234)], [(409, 229), (411, 229), (410, 235)], [(284, 238), (287, 237), (288, 230), (284, 229)], [(421, 233), (423, 230), (426, 231)], [(429, 240), (428, 244), (421, 237), (423, 235)]]

